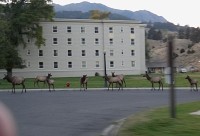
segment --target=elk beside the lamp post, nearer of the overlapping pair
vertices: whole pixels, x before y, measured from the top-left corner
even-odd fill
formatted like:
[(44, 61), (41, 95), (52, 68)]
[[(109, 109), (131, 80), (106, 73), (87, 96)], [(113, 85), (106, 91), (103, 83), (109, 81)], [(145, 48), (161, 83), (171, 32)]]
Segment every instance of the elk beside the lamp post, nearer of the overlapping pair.
[(118, 85), (119, 85), (119, 89), (118, 90), (120, 90), (120, 88), (122, 88), (122, 90), (123, 90), (123, 84), (122, 84), (122, 80), (119, 78), (119, 77), (112, 77), (112, 76), (105, 76), (104, 77), (107, 81), (108, 81), (108, 83), (109, 83), (109, 85), (108, 85), (108, 90), (109, 90), (109, 88), (110, 88), (110, 85), (112, 85), (112, 90), (113, 90), (113, 83), (117, 83)]

